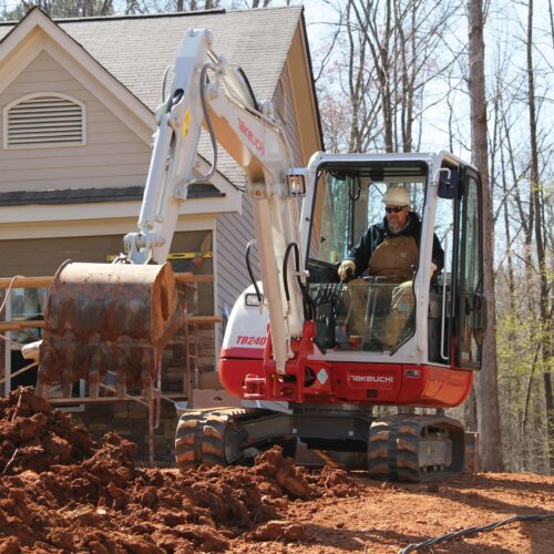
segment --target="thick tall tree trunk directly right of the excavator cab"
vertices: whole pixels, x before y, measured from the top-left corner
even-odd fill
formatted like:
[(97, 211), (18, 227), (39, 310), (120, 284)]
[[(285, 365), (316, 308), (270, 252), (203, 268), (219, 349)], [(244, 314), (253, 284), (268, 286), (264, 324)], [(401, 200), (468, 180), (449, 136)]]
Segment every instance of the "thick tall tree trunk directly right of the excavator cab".
[(483, 183), (483, 274), (489, 326), (483, 345), (483, 369), (479, 378), (479, 458), (484, 471), (502, 470), (496, 368), (496, 315), (494, 307), (492, 211), (489, 191), (486, 100), (484, 79), (483, 3), (469, 0), (469, 92), (472, 160)]

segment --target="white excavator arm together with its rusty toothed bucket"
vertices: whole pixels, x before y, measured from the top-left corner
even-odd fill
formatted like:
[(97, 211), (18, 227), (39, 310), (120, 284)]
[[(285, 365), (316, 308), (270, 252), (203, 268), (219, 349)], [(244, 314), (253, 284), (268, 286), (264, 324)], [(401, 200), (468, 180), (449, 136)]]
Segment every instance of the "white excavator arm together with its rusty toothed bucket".
[[(52, 381), (84, 378), (98, 393), (106, 375), (121, 391), (160, 383), (161, 351), (178, 329), (182, 309), (168, 264), (181, 204), (188, 187), (207, 182), (217, 163), (218, 142), (247, 176), (268, 309), (276, 370), (285, 373), (293, 357), (290, 339), (302, 334), (300, 287), (291, 245), (302, 252), (293, 157), (270, 104), (257, 105), (240, 70), (212, 50), (212, 34), (189, 30), (174, 66), (165, 102), (156, 111), (157, 130), (146, 179), (138, 230), (124, 237), (125, 255), (115, 264), (64, 264), (54, 278), (45, 309), (38, 390)], [(202, 125), (214, 147), (212, 171), (197, 177)], [(160, 387), (157, 387), (157, 390)], [(122, 392), (124, 393), (124, 392)]]

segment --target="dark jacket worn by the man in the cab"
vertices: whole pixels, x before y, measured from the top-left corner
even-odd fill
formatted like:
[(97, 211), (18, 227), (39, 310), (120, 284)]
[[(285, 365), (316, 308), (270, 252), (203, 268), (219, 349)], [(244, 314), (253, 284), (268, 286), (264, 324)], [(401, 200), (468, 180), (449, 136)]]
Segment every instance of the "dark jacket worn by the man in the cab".
[[(369, 259), (373, 250), (388, 237), (393, 236), (411, 236), (416, 239), (416, 244), (420, 244), (421, 222), (414, 212), (410, 212), (408, 225), (399, 233), (389, 230), (389, 222), (383, 217), (381, 223), (371, 225), (368, 230), (361, 236), (360, 242), (348, 253), (347, 259), (353, 260), (356, 264), (356, 275), (360, 276), (368, 267)], [(432, 263), (441, 270), (444, 267), (444, 250), (437, 235), (433, 236), (433, 254)]]

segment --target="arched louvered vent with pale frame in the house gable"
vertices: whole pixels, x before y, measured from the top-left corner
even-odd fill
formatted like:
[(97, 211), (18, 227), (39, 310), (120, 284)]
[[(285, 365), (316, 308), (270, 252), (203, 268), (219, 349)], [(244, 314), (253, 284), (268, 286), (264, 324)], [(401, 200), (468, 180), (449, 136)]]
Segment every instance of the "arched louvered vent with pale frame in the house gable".
[(84, 104), (65, 94), (28, 94), (3, 110), (4, 148), (84, 146)]

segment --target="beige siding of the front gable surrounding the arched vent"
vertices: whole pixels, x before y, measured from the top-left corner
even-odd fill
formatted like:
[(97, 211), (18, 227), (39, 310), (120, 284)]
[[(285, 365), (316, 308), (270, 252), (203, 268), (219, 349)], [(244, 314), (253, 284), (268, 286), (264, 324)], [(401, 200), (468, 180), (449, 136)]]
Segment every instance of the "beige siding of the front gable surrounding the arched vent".
[(150, 146), (44, 51), (0, 94), (0, 117), (7, 104), (37, 92), (61, 92), (85, 104), (86, 145), (0, 150), (0, 191), (144, 184)]

